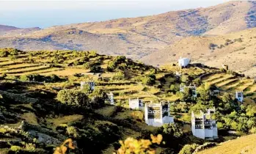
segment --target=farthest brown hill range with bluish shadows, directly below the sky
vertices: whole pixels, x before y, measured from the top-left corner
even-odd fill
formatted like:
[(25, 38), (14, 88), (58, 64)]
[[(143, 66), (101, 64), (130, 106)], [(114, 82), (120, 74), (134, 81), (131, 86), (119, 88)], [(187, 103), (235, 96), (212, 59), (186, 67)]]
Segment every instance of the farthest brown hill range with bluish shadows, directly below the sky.
[(227, 34), (255, 27), (255, 6), (255, 1), (229, 1), (139, 18), (74, 23), (30, 32), (18, 29), (1, 35), (0, 46), (26, 51), (97, 50), (100, 54), (140, 59), (184, 37)]

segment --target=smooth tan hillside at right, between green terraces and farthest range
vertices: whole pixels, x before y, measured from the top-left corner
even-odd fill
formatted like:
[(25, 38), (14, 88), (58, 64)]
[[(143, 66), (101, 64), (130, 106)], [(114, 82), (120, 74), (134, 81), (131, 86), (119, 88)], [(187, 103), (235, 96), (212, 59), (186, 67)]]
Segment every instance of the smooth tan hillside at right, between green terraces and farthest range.
[(255, 32), (256, 29), (247, 29), (215, 37), (187, 37), (157, 53), (145, 56), (142, 61), (163, 65), (177, 62), (183, 56), (211, 67), (226, 64), (231, 70), (255, 76)]

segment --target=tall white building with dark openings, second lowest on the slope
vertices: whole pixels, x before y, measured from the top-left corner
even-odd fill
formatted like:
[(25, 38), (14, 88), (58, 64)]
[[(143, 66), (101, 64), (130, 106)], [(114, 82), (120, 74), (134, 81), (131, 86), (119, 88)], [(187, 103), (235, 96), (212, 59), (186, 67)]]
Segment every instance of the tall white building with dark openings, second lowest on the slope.
[(169, 103), (146, 103), (145, 122), (147, 125), (161, 127), (165, 123), (173, 123), (174, 117), (170, 116)]

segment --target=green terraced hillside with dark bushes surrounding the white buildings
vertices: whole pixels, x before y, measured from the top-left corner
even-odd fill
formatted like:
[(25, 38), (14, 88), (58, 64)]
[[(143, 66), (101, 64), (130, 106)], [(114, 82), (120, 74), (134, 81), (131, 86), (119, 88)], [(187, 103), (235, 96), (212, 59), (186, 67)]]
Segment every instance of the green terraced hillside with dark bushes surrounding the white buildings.
[[(70, 138), (76, 143), (70, 153), (109, 154), (120, 147), (119, 140), (149, 139), (150, 133), (164, 137), (166, 144), (153, 145), (157, 153), (178, 153), (186, 144), (206, 142), (191, 135), (190, 115), (213, 106), (219, 128), (219, 139), (213, 142), (256, 130), (256, 84), (234, 72), (200, 64), (157, 68), (95, 51), (27, 53), (7, 48), (0, 56), (0, 153), (53, 153)], [(81, 90), (81, 81), (94, 81), (95, 91)], [(180, 84), (196, 84), (197, 98), (179, 92)], [(220, 95), (209, 98), (213, 89), (220, 89)], [(241, 89), (243, 105), (234, 98)], [(114, 106), (106, 97), (109, 92)], [(128, 109), (128, 98), (169, 100), (177, 134), (146, 125), (143, 111)]]

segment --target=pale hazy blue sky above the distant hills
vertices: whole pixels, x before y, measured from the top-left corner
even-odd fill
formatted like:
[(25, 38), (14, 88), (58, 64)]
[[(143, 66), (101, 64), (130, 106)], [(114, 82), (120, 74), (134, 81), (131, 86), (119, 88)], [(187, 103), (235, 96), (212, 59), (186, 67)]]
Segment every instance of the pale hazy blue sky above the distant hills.
[(209, 7), (227, 0), (0, 0), (0, 24), (41, 28), (69, 23), (156, 15)]

